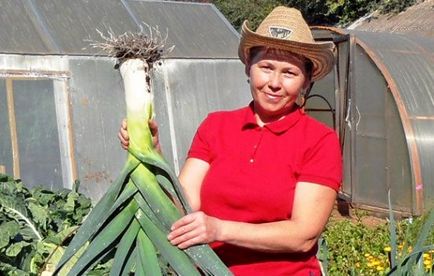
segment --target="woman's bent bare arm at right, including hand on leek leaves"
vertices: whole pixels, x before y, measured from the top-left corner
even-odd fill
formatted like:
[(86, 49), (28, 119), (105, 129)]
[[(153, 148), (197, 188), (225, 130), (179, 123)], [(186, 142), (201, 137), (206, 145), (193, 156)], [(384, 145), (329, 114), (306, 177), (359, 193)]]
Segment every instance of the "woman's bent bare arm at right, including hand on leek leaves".
[(223, 241), (265, 252), (306, 252), (317, 243), (335, 199), (336, 191), (327, 186), (299, 182), (289, 220), (252, 224), (195, 212), (178, 220), (168, 238), (180, 248)]

